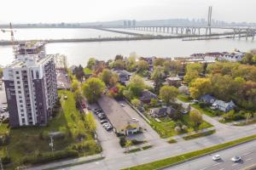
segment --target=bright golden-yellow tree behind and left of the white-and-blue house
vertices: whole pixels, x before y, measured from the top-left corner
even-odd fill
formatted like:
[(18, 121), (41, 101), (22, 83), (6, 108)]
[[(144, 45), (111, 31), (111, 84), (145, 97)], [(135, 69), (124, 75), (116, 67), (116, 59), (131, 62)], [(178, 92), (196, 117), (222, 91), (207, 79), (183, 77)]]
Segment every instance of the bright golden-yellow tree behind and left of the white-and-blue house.
[(209, 78), (196, 78), (189, 88), (190, 96), (193, 99), (199, 99), (204, 94), (210, 94), (212, 82)]

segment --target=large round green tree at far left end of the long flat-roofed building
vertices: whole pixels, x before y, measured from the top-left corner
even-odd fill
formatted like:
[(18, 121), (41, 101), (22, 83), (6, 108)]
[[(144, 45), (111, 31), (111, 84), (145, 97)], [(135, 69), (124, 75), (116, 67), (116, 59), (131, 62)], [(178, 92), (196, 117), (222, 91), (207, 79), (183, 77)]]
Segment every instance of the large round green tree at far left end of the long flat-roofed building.
[(90, 103), (96, 102), (105, 90), (105, 83), (101, 79), (92, 77), (86, 80), (83, 84), (83, 94)]

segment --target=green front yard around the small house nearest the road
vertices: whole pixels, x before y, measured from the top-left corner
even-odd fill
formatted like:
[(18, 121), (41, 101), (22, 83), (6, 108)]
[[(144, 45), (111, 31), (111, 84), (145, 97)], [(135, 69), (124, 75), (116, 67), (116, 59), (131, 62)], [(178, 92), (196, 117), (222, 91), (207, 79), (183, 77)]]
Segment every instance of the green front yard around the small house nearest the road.
[[(173, 121), (170, 117), (163, 117), (159, 118), (161, 122), (156, 122), (154, 118), (149, 118), (151, 122), (151, 126), (154, 128), (154, 130), (160, 134), (161, 138), (168, 138), (172, 137), (177, 134), (182, 134), (182, 133), (188, 133), (188, 132), (193, 132), (196, 130), (201, 130), (203, 128), (207, 127), (212, 127), (212, 124), (208, 122), (202, 122), (199, 127), (195, 128), (194, 122), (190, 119), (189, 115), (183, 116), (182, 120), (180, 121)], [(174, 130), (174, 127), (177, 126), (177, 122), (181, 123), (183, 125), (186, 125), (188, 127), (187, 131), (182, 131), (180, 133), (177, 133)]]

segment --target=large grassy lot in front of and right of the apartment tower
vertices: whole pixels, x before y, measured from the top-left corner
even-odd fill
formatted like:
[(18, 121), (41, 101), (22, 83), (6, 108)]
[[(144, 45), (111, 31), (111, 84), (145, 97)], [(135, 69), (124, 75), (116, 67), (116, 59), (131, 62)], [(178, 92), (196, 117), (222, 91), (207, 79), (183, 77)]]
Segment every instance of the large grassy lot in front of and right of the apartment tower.
[[(93, 133), (84, 126), (82, 115), (75, 107), (73, 93), (59, 91), (59, 96), (67, 95), (67, 99), (61, 98), (61, 109), (46, 127), (20, 127), (10, 129), (5, 124), (1, 125), (1, 133), (9, 133), (10, 143), (0, 147), (0, 155), (8, 154), (14, 167), (22, 164), (24, 156), (36, 156), (39, 153), (50, 152), (49, 133), (61, 132), (63, 139), (54, 140), (55, 150), (64, 150), (73, 144), (90, 143), (88, 150), (80, 150), (79, 156), (98, 153), (101, 148), (96, 145)], [(78, 136), (84, 137), (79, 140)]]

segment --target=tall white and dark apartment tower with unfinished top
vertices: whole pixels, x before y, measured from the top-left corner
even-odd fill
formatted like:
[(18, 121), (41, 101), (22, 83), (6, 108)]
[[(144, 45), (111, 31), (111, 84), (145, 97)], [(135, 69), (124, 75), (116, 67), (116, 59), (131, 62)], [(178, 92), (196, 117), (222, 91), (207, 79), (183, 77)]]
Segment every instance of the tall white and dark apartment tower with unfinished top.
[(3, 69), (10, 126), (44, 126), (58, 97), (54, 56), (45, 54), (44, 42), (24, 42), (15, 58)]

